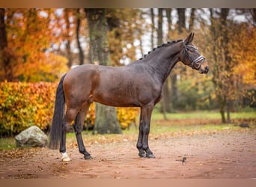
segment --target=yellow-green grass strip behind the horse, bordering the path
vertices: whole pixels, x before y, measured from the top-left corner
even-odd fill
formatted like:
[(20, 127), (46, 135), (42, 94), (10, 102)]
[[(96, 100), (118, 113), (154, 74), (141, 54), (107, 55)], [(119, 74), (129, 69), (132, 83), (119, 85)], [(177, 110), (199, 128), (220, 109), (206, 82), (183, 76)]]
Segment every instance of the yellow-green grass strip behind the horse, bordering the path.
[[(210, 121), (219, 120), (218, 111), (193, 111), (166, 114), (168, 120), (163, 120), (163, 114), (153, 111), (150, 135), (159, 137), (161, 135), (191, 135), (201, 132), (216, 132), (224, 130), (239, 130), (239, 126), (233, 124), (213, 124)], [(252, 128), (255, 129), (256, 111), (231, 113), (231, 119), (251, 119)], [(175, 123), (174, 123), (174, 120)], [(203, 121), (204, 123), (200, 123)], [(138, 122), (137, 122), (138, 123)], [(123, 135), (92, 135), (91, 132), (83, 132), (85, 141), (89, 143), (110, 143), (123, 139), (135, 140), (138, 136), (138, 124), (123, 131)], [(75, 133), (67, 133), (67, 144), (76, 142)], [(16, 147), (14, 138), (0, 138), (0, 150), (11, 150)]]

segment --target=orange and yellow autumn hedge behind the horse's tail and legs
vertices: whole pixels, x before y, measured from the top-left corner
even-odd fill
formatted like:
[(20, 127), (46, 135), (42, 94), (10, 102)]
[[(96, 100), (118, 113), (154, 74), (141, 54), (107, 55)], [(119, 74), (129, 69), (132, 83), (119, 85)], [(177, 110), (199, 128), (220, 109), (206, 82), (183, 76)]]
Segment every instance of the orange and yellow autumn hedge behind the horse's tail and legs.
[[(55, 103), (56, 83), (0, 82), (0, 135), (13, 135), (35, 125), (49, 129)], [(94, 126), (95, 106), (91, 105), (85, 126)], [(138, 108), (118, 108), (121, 129), (135, 123)]]

